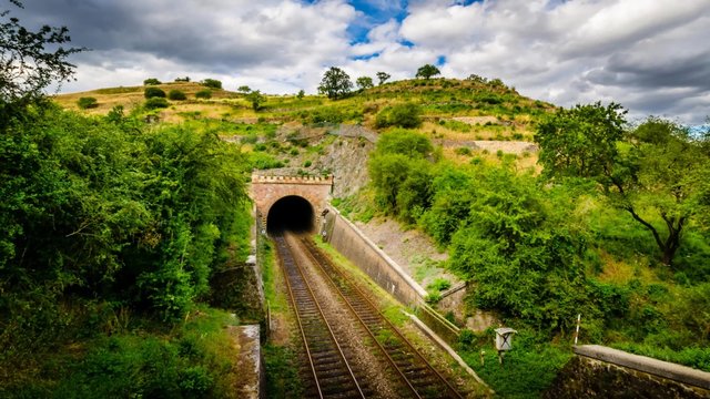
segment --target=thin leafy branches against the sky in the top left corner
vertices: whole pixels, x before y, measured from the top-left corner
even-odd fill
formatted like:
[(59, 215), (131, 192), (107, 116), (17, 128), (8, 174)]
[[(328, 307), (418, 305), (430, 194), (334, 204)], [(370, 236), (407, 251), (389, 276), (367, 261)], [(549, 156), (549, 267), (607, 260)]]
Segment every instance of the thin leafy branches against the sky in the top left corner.
[[(12, 3), (22, 7), (20, 1)], [(33, 32), (17, 18), (6, 22), (9, 13), (9, 10), (0, 12), (3, 19), (0, 23), (0, 113), (4, 113), (11, 102), (37, 100), (50, 84), (69, 81), (74, 65), (68, 58), (85, 50), (63, 47), (70, 41), (65, 27), (43, 25)]]

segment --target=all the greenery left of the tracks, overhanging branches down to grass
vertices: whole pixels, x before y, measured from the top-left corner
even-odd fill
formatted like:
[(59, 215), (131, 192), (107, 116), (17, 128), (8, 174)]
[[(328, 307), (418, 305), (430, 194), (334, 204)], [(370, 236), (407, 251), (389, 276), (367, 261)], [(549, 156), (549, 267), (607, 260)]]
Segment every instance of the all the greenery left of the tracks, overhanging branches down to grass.
[(248, 250), (250, 160), (209, 129), (60, 110), (42, 90), (78, 50), (44, 45), (67, 29), (0, 28), (0, 396), (239, 395), (239, 320), (204, 303)]

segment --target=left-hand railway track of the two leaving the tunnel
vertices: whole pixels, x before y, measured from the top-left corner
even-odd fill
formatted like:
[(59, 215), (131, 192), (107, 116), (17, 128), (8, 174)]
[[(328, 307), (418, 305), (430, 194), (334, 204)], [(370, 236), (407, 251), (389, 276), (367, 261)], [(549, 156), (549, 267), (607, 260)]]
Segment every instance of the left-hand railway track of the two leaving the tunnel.
[(295, 260), (284, 236), (274, 236), (286, 287), (296, 315), (313, 385), (306, 385), (308, 398), (365, 398), (368, 389), (361, 386), (343, 348), (318, 305), (313, 289)]

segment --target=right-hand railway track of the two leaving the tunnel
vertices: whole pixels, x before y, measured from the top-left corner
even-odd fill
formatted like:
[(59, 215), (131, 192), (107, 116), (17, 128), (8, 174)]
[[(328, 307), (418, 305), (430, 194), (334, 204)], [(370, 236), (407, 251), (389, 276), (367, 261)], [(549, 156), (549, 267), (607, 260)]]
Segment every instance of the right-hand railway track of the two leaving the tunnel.
[(399, 393), (403, 398), (462, 398), (446, 378), (379, 311), (368, 295), (344, 275), (311, 238), (300, 237), (298, 241), (399, 376)]

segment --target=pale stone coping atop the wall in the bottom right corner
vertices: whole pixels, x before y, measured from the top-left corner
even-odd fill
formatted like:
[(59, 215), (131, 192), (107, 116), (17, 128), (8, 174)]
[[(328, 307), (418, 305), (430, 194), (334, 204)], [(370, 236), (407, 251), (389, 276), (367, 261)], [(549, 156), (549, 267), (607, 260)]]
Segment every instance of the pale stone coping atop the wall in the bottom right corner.
[(580, 345), (574, 347), (574, 352), (591, 359), (648, 372), (650, 375), (671, 379), (673, 381), (710, 390), (710, 372), (690, 367), (652, 359), (600, 345)]

